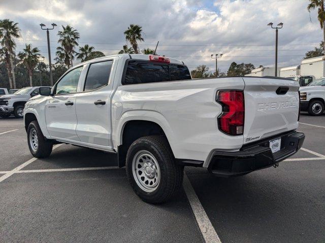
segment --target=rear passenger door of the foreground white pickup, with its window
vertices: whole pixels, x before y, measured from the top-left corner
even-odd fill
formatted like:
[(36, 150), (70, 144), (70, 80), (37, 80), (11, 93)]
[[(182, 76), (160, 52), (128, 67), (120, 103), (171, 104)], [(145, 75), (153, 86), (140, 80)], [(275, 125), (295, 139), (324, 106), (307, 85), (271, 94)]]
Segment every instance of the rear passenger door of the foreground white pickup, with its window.
[(76, 133), (81, 142), (110, 146), (110, 96), (117, 60), (114, 57), (87, 65), (82, 92), (76, 100)]

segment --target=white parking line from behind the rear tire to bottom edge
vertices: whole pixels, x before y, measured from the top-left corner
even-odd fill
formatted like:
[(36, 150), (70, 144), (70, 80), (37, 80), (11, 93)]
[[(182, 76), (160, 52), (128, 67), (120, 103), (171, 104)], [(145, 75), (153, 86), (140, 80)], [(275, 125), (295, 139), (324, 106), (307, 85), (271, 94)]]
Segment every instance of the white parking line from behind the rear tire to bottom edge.
[(183, 187), (205, 242), (221, 243), (217, 232), (213, 228), (207, 213), (204, 211), (197, 194), (187, 178), (186, 173), (184, 173)]

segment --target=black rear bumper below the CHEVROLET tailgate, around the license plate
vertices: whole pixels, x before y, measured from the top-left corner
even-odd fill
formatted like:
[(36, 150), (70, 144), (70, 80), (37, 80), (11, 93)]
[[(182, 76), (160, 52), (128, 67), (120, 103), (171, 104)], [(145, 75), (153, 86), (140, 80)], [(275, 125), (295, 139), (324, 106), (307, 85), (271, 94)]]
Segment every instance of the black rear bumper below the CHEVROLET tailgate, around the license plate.
[[(281, 149), (272, 153), (269, 141), (281, 137)], [(302, 146), (305, 134), (289, 132), (244, 145), (240, 151), (214, 151), (208, 170), (215, 176), (241, 176), (279, 163), (296, 153)]]

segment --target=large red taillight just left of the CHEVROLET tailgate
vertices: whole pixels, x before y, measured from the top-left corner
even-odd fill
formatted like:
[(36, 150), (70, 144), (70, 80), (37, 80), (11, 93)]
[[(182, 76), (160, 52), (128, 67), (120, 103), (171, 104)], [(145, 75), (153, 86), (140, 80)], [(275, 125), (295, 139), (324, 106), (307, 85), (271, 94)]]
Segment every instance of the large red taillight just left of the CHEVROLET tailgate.
[(230, 135), (242, 135), (244, 132), (244, 92), (224, 90), (217, 93), (216, 101), (222, 105), (218, 117), (219, 130)]

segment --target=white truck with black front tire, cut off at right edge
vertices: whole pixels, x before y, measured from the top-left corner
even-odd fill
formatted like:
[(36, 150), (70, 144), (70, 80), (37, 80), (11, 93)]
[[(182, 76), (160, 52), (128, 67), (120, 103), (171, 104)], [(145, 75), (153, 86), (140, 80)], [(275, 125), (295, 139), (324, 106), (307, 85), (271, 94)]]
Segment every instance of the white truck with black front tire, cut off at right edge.
[(308, 86), (301, 87), (300, 107), (310, 115), (321, 115), (325, 106), (325, 77), (316, 79)]

